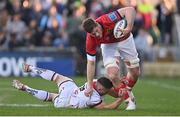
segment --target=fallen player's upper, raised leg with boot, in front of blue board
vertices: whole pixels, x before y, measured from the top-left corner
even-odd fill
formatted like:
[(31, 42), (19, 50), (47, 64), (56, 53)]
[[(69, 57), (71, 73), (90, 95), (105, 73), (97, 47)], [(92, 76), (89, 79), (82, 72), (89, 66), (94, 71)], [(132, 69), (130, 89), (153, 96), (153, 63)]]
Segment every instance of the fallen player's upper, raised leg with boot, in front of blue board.
[(28, 64), (23, 64), (22, 69), (24, 72), (33, 72), (34, 74), (39, 75), (43, 79), (53, 81), (58, 86), (61, 85), (63, 82), (73, 81), (72, 79), (70, 79), (66, 76), (60, 75), (54, 71), (38, 68), (38, 67), (28, 65)]

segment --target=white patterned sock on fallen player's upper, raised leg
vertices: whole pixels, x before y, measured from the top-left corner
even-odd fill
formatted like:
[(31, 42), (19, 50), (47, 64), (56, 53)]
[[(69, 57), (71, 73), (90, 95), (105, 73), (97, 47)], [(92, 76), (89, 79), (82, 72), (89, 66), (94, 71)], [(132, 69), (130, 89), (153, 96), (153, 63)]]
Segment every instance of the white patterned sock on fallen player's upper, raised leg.
[(38, 67), (34, 67), (34, 66), (29, 66), (29, 67), (33, 73), (41, 76), (43, 79), (46, 79), (46, 80), (53, 81), (53, 78), (56, 74), (56, 72), (51, 71), (51, 70), (42, 69), (42, 68), (38, 68)]

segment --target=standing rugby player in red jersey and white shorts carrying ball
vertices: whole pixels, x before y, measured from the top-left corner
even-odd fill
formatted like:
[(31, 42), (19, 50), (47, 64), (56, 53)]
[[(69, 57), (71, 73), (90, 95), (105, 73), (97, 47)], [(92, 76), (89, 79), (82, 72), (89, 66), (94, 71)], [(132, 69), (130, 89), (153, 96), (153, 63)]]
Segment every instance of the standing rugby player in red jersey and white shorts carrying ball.
[[(87, 32), (86, 53), (87, 53), (87, 82), (88, 88), (86, 96), (90, 96), (93, 89), (93, 78), (95, 75), (96, 48), (100, 46), (103, 63), (106, 69), (106, 76), (113, 82), (114, 97), (120, 94), (122, 88), (129, 89), (126, 92), (126, 110), (135, 110), (136, 105), (132, 88), (136, 84), (140, 74), (139, 58), (134, 44), (131, 30), (134, 24), (136, 12), (133, 7), (124, 7), (116, 11), (104, 14), (96, 20), (87, 18), (83, 21), (82, 27)], [(113, 29), (115, 24), (126, 19), (127, 26), (122, 29), (122, 36), (115, 38)], [(128, 73), (124, 78), (120, 78), (120, 57), (126, 63)]]

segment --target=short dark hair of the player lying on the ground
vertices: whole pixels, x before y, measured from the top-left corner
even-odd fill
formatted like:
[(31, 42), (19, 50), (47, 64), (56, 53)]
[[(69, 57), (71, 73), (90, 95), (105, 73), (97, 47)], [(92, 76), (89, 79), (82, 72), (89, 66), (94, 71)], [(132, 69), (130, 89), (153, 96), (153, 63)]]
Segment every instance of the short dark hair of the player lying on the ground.
[(106, 77), (100, 77), (97, 82), (99, 82), (106, 89), (111, 89), (113, 87), (112, 82)]

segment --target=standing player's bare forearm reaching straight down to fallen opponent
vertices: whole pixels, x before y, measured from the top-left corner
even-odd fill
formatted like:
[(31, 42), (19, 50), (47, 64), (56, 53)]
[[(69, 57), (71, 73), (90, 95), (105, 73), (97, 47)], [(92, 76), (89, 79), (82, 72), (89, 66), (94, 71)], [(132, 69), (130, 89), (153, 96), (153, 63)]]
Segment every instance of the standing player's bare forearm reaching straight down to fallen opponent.
[(94, 75), (95, 75), (95, 61), (88, 61), (87, 62), (87, 82), (89, 85), (92, 85)]

